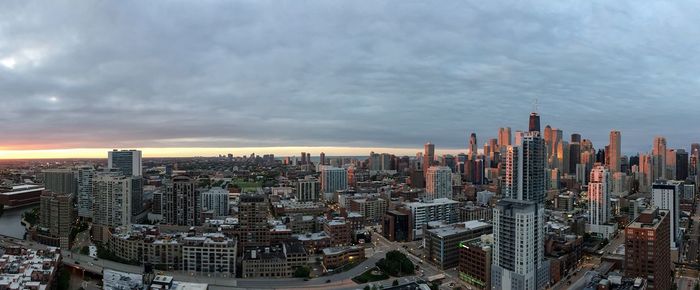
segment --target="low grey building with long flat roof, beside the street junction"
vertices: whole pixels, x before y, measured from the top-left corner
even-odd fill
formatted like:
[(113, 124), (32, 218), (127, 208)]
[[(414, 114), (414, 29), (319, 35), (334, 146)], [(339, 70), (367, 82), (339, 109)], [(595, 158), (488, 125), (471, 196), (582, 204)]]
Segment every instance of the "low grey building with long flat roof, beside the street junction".
[(423, 249), (426, 261), (445, 270), (459, 265), (459, 244), (465, 240), (490, 234), (491, 224), (468, 221), (425, 230)]

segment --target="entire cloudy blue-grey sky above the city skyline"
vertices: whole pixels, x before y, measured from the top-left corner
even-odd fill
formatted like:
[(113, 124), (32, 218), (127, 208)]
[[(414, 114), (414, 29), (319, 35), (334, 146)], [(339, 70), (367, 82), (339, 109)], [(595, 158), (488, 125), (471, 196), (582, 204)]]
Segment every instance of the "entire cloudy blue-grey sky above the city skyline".
[[(0, 158), (700, 142), (698, 1), (2, 1)], [(535, 106), (537, 102), (537, 106)], [(328, 154), (327, 152), (327, 154)]]

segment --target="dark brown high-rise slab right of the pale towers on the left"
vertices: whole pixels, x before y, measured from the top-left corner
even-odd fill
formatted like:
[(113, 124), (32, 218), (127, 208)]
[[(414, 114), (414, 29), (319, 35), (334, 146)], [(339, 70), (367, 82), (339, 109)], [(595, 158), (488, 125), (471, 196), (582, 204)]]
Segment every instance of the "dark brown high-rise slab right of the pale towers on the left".
[(188, 176), (175, 176), (165, 186), (163, 221), (178, 226), (201, 224), (202, 197)]

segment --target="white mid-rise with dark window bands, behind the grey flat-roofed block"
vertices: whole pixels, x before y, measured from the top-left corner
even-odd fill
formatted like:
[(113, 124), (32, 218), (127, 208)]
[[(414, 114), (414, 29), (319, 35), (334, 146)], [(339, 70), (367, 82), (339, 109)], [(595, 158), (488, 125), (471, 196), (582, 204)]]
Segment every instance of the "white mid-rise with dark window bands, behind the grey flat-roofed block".
[(406, 207), (411, 211), (413, 238), (419, 239), (423, 236), (423, 227), (429, 222), (456, 223), (459, 202), (448, 198), (436, 198), (426, 202), (409, 202)]

